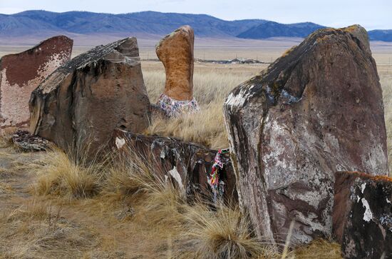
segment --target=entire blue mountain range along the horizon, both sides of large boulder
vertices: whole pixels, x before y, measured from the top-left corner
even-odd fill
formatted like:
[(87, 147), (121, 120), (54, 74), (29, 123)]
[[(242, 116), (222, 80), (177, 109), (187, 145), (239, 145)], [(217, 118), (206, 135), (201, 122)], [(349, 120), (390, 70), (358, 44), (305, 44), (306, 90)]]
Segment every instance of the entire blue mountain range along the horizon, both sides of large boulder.
[[(100, 14), (87, 11), (24, 11), (0, 14), (0, 38), (33, 37), (53, 34), (93, 36), (105, 34), (150, 34), (163, 36), (189, 24), (199, 37), (268, 39), (304, 38), (319, 24), (279, 24), (262, 19), (225, 21), (206, 14), (175, 14), (143, 11), (130, 14)], [(392, 30), (368, 31), (373, 41), (392, 41)]]

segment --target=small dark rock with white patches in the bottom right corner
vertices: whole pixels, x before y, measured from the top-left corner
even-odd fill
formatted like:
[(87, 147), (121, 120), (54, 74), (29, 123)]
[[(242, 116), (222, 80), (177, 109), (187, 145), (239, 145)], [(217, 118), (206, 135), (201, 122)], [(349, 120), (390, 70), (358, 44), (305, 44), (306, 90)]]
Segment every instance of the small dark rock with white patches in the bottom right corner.
[(392, 178), (335, 173), (334, 236), (344, 258), (392, 258)]

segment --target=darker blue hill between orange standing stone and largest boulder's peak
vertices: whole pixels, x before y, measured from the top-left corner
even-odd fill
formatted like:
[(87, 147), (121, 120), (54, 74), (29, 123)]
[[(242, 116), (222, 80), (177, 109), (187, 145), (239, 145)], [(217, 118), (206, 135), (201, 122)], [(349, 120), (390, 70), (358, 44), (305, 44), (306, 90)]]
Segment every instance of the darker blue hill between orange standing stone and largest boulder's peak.
[(243, 39), (267, 39), (271, 37), (304, 38), (313, 31), (322, 28), (325, 28), (325, 26), (309, 22), (300, 24), (279, 24), (274, 21), (267, 21), (238, 34), (237, 37)]

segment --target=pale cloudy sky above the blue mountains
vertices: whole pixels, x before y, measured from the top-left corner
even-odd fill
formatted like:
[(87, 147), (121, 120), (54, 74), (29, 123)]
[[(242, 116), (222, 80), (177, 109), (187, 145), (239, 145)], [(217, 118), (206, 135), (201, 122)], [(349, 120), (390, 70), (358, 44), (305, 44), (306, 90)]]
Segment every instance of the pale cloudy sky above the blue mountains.
[(0, 14), (38, 9), (111, 14), (162, 11), (210, 14), (225, 20), (312, 21), (331, 27), (361, 24), (368, 30), (392, 29), (392, 0), (0, 0)]

